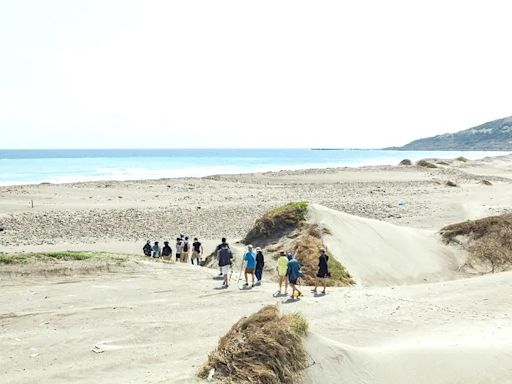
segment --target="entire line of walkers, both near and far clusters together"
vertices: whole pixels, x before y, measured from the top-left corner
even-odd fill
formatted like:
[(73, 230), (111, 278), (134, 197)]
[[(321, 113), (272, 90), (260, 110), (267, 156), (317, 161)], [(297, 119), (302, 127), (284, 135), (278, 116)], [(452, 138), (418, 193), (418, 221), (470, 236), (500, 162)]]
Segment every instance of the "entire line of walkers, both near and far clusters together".
[[(190, 250), (192, 250), (192, 254), (190, 254)], [(163, 260), (169, 261), (172, 259), (172, 249), (169, 246), (168, 241), (164, 241), (163, 248), (160, 248), (158, 241), (155, 241), (154, 244), (151, 245), (148, 240), (144, 245), (143, 251), (146, 256), (152, 256), (155, 258), (161, 257)], [(232, 267), (234, 256), (226, 238), (222, 238), (221, 243), (217, 246), (215, 252), (220, 269), (219, 276), (222, 276), (223, 279), (222, 288), (228, 288), (233, 273)], [(190, 257), (190, 262), (192, 264), (196, 261), (196, 265), (201, 265), (203, 246), (197, 237), (194, 238), (192, 246), (189, 246), (188, 236), (180, 235), (176, 238), (175, 257), (177, 262), (179, 261), (182, 263), (188, 262)], [(321, 248), (320, 256), (318, 257), (318, 272), (316, 274), (315, 287), (312, 289), (313, 293), (318, 293), (318, 286), (322, 285), (323, 290), (321, 293), (325, 294), (327, 279), (331, 276), (329, 273), (328, 262), (329, 256), (326, 254), (325, 249)], [(261, 285), (264, 266), (265, 257), (263, 256), (262, 249), (260, 247), (256, 247), (254, 250), (252, 245), (248, 245), (247, 251), (244, 253), (242, 259), (242, 267), (238, 277), (238, 281), (240, 282), (243, 273), (245, 284), (242, 289)], [(277, 259), (276, 272), (279, 281), (279, 295), (288, 295), (288, 285), (290, 285), (292, 288), (292, 298), (299, 298), (303, 296), (302, 291), (298, 287), (298, 282), (299, 279), (304, 276), (304, 273), (299, 261), (291, 252), (280, 252), (279, 258)], [(251, 280), (250, 284), (249, 278)], [(322, 282), (322, 284), (320, 284), (320, 282)], [(283, 285), (284, 292), (282, 292)]]

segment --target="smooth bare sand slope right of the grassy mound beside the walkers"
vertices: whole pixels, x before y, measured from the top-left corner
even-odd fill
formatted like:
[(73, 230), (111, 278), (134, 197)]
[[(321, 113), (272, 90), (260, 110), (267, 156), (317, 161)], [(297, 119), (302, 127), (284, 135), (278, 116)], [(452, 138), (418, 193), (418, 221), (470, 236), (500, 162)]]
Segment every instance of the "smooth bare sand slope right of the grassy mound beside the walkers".
[(325, 244), (365, 286), (433, 282), (460, 277), (464, 255), (444, 246), (432, 231), (365, 219), (320, 205), (311, 220), (327, 228)]

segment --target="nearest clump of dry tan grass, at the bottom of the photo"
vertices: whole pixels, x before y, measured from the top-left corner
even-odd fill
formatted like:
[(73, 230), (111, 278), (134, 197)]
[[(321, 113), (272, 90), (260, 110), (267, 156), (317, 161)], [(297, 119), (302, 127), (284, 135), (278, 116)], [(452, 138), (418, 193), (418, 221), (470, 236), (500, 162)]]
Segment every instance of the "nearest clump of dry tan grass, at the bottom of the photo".
[(300, 314), (281, 315), (277, 306), (268, 305), (240, 319), (221, 337), (199, 377), (208, 377), (213, 368), (221, 383), (296, 383), (307, 365), (302, 341), (307, 330)]

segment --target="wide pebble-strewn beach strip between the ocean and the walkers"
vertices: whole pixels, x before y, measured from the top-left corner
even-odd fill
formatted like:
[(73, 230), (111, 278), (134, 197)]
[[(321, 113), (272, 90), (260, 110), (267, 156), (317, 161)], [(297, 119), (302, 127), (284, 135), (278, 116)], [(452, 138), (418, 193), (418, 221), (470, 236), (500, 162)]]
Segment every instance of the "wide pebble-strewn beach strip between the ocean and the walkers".
[(510, 210), (512, 155), (442, 163), (3, 186), (0, 252), (180, 233), (239, 239), (264, 212), (291, 201), (434, 232)]

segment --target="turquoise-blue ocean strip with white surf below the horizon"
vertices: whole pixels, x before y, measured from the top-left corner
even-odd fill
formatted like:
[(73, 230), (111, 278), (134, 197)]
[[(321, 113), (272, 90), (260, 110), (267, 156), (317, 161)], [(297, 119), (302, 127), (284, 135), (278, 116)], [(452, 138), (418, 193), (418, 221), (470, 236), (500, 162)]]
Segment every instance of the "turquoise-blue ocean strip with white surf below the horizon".
[(201, 177), (304, 168), (392, 165), (402, 159), (479, 159), (506, 152), (312, 149), (0, 150), (0, 185)]

